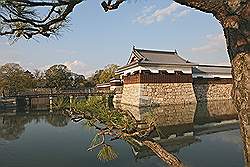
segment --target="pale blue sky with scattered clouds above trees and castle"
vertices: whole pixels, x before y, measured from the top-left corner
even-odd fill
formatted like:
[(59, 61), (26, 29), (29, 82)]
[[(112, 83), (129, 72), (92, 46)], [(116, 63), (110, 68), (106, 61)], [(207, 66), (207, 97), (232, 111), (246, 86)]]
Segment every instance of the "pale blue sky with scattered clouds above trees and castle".
[(87, 0), (70, 15), (69, 30), (59, 39), (19, 40), (0, 37), (0, 65), (19, 63), (25, 70), (64, 64), (90, 76), (108, 64), (125, 65), (136, 48), (177, 50), (200, 64), (228, 65), (225, 38), (211, 15), (171, 0), (128, 0), (105, 13), (101, 0)]

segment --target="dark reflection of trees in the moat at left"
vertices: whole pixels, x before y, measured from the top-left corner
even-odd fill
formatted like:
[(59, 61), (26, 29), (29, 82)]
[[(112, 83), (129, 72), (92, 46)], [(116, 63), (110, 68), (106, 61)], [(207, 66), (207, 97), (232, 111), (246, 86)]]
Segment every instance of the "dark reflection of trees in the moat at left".
[(69, 118), (60, 112), (17, 112), (15, 115), (0, 116), (0, 138), (5, 140), (18, 139), (25, 131), (25, 125), (31, 122), (35, 124), (46, 120), (54, 127), (64, 127), (68, 124)]

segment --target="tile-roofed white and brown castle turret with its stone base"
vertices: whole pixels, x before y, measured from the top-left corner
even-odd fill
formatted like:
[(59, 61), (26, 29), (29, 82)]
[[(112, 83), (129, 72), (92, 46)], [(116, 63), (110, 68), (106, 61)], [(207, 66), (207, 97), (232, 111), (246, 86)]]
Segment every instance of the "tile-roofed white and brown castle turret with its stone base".
[(155, 106), (196, 103), (192, 67), (177, 51), (133, 48), (117, 71), (123, 80), (121, 104)]

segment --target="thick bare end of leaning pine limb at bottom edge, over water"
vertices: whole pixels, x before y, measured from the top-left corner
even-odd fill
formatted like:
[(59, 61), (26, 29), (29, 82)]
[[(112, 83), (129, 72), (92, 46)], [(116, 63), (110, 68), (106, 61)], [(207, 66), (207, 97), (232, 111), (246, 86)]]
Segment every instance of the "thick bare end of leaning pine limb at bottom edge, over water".
[(159, 158), (171, 167), (184, 167), (181, 161), (171, 153), (167, 152), (158, 143), (146, 140), (142, 144), (150, 148)]

